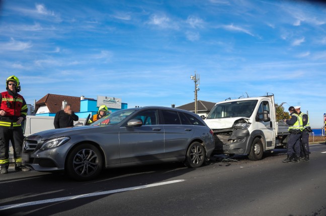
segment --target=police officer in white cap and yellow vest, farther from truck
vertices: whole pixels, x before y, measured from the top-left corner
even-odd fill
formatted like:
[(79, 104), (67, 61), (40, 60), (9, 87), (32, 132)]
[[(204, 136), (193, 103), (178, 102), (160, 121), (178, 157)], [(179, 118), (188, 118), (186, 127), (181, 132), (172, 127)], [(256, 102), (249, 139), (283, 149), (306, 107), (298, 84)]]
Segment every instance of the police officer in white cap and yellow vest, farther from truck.
[(307, 114), (301, 112), (300, 106), (295, 106), (295, 111), (302, 118), (302, 134), (301, 134), (301, 143), (300, 143), (300, 159), (303, 161), (309, 161), (309, 133), (311, 132), (309, 117)]

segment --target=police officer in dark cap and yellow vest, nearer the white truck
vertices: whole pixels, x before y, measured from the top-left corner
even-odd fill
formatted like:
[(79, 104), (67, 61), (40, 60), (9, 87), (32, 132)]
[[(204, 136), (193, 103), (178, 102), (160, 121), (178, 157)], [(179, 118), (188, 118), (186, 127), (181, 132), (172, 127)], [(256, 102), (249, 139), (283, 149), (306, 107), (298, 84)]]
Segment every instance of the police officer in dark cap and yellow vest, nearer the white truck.
[(284, 163), (300, 162), (300, 142), (303, 129), (302, 119), (295, 111), (293, 106), (289, 107), (290, 119), (284, 120), (289, 126), (290, 137), (287, 143), (287, 158), (282, 160)]

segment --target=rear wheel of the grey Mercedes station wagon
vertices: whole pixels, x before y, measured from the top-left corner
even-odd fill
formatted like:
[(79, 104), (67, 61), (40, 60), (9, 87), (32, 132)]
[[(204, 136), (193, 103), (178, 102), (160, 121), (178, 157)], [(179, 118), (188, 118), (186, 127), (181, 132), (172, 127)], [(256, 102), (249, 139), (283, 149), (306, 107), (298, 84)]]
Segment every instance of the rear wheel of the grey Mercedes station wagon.
[(205, 162), (205, 148), (199, 142), (193, 142), (186, 153), (185, 165), (191, 168), (197, 168)]

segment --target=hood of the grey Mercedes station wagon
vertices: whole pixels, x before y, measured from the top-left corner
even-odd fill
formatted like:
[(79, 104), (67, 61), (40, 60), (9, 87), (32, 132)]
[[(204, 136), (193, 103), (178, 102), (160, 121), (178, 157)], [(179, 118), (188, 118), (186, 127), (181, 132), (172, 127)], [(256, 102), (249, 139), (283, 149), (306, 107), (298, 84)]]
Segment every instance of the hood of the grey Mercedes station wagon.
[(60, 136), (72, 136), (74, 134), (83, 134), (88, 133), (91, 130), (96, 130), (100, 127), (112, 127), (112, 125), (106, 126), (76, 126), (76, 127), (66, 127), (66, 128), (58, 128), (58, 129), (51, 129), (51, 130), (44, 130), (26, 137), (26, 139), (33, 139), (33, 140), (45, 140), (54, 137)]

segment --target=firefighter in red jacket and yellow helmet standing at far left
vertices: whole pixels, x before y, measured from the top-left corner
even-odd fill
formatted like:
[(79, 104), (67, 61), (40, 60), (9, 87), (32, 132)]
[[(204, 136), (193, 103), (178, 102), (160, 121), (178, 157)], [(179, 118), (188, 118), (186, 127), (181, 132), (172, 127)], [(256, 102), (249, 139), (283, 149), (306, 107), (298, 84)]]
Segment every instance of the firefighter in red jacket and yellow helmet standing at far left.
[(24, 134), (21, 126), (26, 119), (27, 105), (21, 90), (19, 79), (10, 76), (6, 80), (6, 92), (0, 95), (0, 173), (8, 173), (9, 141), (14, 148), (15, 170), (29, 171), (30, 168), (22, 165), (22, 147)]

